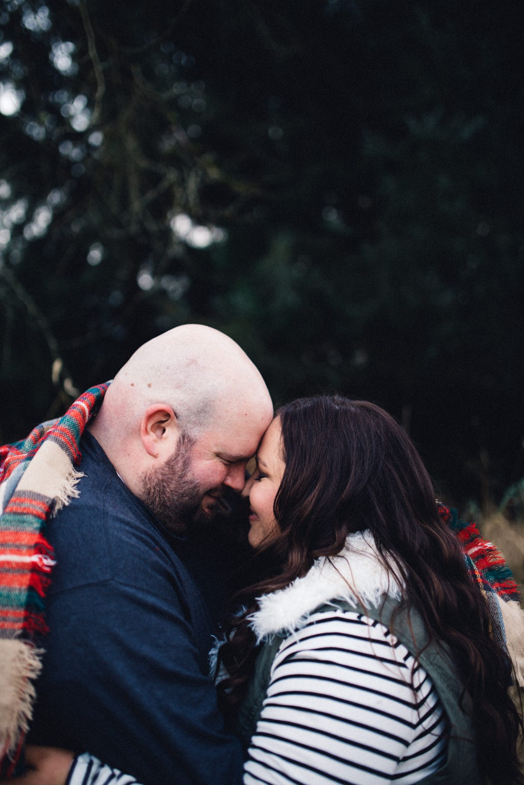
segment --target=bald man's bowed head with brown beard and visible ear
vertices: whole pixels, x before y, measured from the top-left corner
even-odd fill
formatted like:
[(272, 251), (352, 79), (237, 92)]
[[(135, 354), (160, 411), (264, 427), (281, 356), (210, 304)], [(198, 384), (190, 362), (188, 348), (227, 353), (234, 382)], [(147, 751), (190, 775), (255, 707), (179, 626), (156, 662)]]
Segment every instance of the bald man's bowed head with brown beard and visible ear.
[(175, 531), (206, 517), (272, 418), (264, 380), (223, 333), (186, 324), (137, 349), (91, 431), (122, 480)]

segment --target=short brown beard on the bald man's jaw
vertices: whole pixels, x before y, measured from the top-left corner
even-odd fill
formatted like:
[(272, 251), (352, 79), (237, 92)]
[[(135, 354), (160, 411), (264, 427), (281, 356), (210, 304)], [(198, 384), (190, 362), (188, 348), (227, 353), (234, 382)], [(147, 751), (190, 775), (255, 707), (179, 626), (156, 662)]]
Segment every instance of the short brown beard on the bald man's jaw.
[(166, 463), (142, 475), (140, 499), (164, 526), (177, 535), (209, 520), (202, 509), (202, 488), (191, 474), (191, 448), (195, 439), (182, 434)]

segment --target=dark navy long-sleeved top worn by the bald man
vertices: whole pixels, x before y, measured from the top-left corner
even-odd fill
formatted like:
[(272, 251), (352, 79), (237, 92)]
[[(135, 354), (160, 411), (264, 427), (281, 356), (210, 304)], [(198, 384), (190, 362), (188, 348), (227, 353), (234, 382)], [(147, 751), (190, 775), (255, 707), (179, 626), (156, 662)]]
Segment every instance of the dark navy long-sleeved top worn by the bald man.
[(89, 750), (146, 785), (240, 783), (241, 747), (208, 673), (217, 557), (170, 537), (89, 433), (81, 451), (80, 495), (49, 523), (56, 567), (29, 740)]

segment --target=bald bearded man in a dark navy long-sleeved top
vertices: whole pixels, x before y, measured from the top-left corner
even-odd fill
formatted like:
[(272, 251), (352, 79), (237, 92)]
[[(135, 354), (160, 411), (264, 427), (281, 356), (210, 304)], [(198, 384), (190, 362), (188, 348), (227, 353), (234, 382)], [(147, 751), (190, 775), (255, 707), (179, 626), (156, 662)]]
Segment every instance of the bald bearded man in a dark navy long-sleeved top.
[(147, 785), (241, 782), (209, 677), (212, 516), (272, 414), (257, 368), (209, 327), (169, 330), (116, 374), (82, 437), (78, 498), (49, 526), (32, 743), (89, 750)]

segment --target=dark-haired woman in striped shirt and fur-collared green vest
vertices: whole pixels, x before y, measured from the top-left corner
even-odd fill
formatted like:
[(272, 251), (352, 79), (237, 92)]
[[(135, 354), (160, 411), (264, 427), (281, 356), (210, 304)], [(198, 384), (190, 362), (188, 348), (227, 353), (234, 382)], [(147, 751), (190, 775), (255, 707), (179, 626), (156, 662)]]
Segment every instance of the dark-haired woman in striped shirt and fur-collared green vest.
[[(265, 576), (220, 648), (219, 690), (246, 785), (521, 783), (497, 619), (395, 420), (340, 396), (290, 403), (245, 493)], [(71, 785), (111, 782), (84, 780), (89, 765)]]

